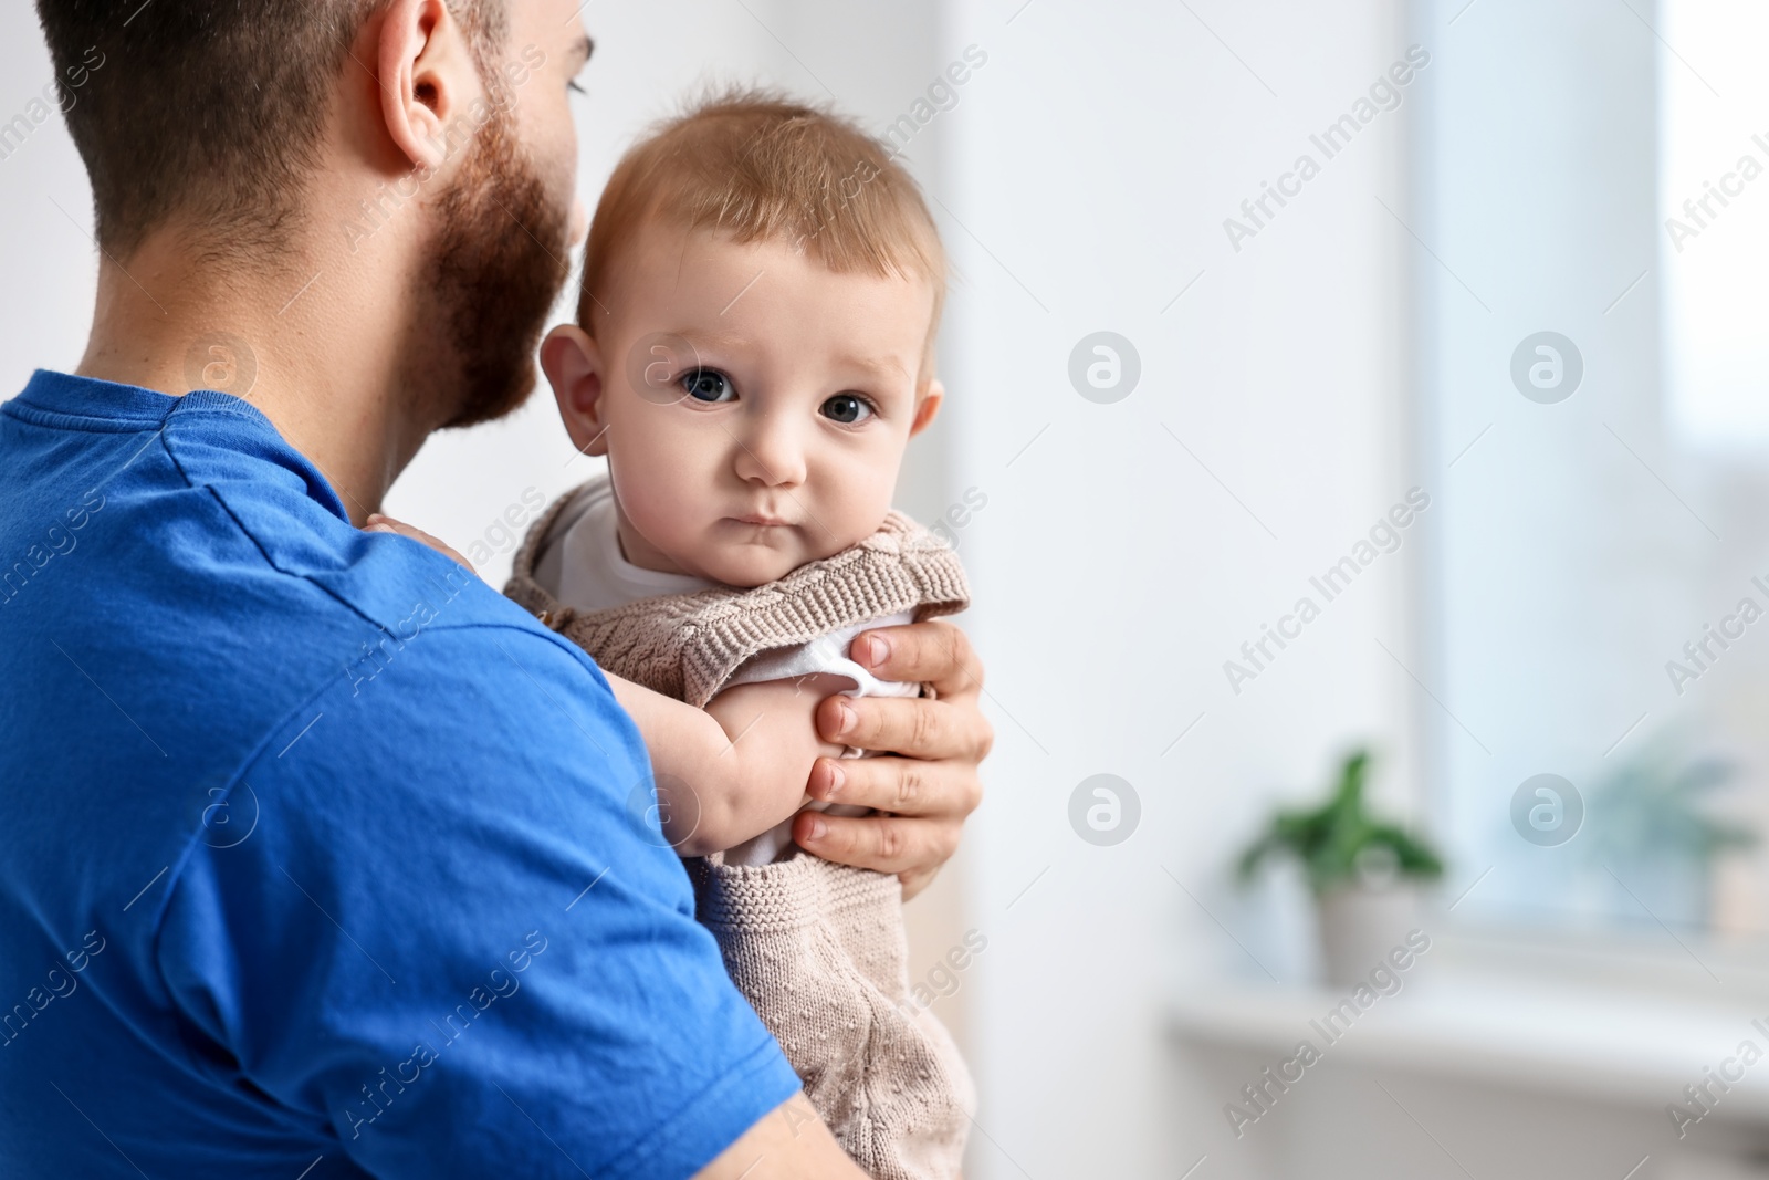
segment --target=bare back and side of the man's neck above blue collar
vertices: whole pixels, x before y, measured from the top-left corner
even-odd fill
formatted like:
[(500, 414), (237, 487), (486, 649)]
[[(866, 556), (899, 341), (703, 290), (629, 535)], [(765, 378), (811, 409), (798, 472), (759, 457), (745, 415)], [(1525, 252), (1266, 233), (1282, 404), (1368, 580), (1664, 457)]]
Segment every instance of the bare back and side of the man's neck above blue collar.
[(173, 396), (242, 396), (363, 524), (439, 425), (412, 421), (400, 396), (403, 276), (338, 251), (283, 257), (297, 262), (223, 262), (172, 235), (126, 264), (104, 255), (76, 372)]

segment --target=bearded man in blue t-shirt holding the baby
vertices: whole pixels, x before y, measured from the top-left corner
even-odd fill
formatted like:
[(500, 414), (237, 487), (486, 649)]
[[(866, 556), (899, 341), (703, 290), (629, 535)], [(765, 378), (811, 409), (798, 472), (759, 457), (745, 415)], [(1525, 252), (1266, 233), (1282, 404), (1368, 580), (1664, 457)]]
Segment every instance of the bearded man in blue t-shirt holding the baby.
[[(39, 0), (101, 272), (0, 407), (0, 1173), (858, 1176), (692, 922), (600, 672), (361, 531), (529, 393), (582, 234), (575, 0)], [(196, 389), (196, 393), (186, 393)], [(226, 396), (239, 395), (239, 396)], [(833, 699), (810, 851), (925, 885), (980, 667)]]

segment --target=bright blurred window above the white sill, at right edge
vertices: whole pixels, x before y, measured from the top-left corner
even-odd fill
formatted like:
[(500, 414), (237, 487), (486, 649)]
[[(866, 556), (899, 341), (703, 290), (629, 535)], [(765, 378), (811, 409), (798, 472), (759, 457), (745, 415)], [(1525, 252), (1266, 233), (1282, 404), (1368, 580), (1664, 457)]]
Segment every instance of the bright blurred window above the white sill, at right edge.
[(1426, 764), (1461, 883), (1489, 870), (1458, 916), (1757, 932), (1769, 11), (1435, 7)]

